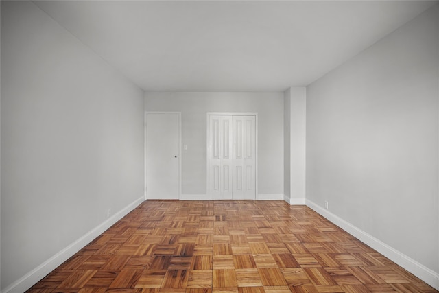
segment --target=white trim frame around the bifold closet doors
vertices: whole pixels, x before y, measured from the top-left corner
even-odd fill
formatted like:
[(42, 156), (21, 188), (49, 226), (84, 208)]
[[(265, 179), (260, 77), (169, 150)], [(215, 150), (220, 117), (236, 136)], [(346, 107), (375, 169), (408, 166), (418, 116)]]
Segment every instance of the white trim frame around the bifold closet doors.
[(207, 199), (210, 199), (209, 194), (209, 116), (210, 115), (227, 115), (227, 116), (254, 116), (254, 147), (255, 147), (255, 154), (256, 154), (256, 167), (255, 167), (255, 178), (254, 178), (254, 200), (257, 200), (258, 198), (258, 169), (259, 169), (259, 162), (258, 162), (258, 113), (257, 112), (207, 112), (206, 113), (206, 194)]

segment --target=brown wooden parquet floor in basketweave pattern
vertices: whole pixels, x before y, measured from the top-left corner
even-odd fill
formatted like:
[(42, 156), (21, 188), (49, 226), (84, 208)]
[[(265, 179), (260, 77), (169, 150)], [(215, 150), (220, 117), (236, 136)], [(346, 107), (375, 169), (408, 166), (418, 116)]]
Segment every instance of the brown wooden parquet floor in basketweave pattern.
[(28, 292), (438, 292), (305, 206), (147, 201)]

